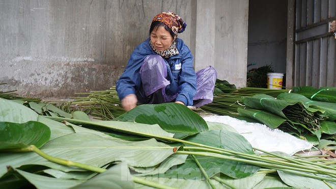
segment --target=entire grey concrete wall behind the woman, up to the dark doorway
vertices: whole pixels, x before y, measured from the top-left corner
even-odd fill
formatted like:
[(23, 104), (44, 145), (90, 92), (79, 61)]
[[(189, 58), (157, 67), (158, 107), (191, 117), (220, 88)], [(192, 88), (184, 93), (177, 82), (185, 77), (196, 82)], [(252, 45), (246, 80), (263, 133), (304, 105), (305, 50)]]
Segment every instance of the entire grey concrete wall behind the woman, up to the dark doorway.
[[(167, 10), (188, 24), (179, 38), (195, 56), (195, 70), (212, 65), (220, 79), (243, 86), (246, 73), (229, 65), (246, 67), (247, 39), (241, 37), (247, 30), (247, 5), (248, 0), (0, 0), (0, 83), (8, 83), (0, 91), (68, 98), (74, 92), (108, 89), (132, 50), (148, 38), (152, 18)], [(212, 41), (207, 45), (212, 48), (203, 51), (202, 40), (208, 36), (203, 25), (209, 24)]]

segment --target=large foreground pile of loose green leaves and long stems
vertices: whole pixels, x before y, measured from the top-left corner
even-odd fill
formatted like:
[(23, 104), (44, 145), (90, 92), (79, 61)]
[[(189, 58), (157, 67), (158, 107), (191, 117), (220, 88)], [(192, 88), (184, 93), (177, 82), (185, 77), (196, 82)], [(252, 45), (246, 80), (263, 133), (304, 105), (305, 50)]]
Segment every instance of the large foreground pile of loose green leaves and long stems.
[(334, 161), (256, 154), (228, 125), (180, 104), (141, 105), (111, 121), (47, 107), (0, 99), (0, 187), (336, 186), (336, 168), (324, 165)]

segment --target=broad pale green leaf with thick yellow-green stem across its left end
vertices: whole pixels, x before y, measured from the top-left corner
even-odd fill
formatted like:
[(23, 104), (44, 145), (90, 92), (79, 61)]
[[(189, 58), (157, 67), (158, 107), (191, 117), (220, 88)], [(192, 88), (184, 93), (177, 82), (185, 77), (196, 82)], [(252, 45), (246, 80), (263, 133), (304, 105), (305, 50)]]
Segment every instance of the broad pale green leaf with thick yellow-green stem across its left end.
[[(157, 142), (155, 139), (130, 142), (108, 139), (89, 133), (75, 133), (59, 137), (46, 143), (41, 150), (48, 155), (95, 167), (102, 167), (115, 161), (129, 166), (153, 167), (174, 154), (175, 147)], [(43, 165), (62, 171), (80, 170), (49, 162), (36, 153), (2, 153), (0, 175), (7, 166)]]

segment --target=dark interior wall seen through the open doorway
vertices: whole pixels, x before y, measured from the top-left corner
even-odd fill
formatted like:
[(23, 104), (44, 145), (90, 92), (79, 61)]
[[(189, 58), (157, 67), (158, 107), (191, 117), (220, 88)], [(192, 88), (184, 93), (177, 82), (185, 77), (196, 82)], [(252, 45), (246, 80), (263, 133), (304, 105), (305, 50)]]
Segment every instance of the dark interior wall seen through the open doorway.
[(286, 73), (287, 1), (250, 0), (248, 17), (248, 67), (272, 65)]

